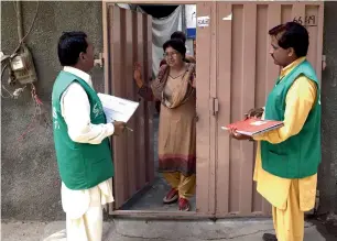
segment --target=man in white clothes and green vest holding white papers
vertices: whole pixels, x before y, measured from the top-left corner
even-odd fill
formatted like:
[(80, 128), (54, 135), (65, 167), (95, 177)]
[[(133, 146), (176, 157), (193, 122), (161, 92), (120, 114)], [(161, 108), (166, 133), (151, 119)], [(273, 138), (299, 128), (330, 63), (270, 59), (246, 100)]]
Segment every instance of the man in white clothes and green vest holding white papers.
[(113, 201), (108, 138), (120, 135), (126, 124), (106, 122), (88, 74), (94, 67), (94, 46), (85, 33), (64, 33), (58, 59), (64, 69), (53, 87), (53, 130), (67, 241), (101, 241), (101, 207)]

